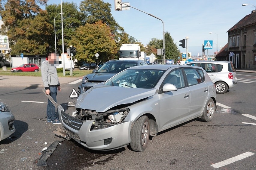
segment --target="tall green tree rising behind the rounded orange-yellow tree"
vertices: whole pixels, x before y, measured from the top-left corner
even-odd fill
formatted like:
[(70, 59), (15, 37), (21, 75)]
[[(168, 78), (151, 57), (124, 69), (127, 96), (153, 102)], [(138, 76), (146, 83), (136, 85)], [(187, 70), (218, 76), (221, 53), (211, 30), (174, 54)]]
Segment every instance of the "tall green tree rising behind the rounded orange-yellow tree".
[(110, 3), (105, 3), (102, 0), (84, 0), (80, 2), (79, 9), (82, 13), (82, 23), (84, 24), (102, 21), (109, 26), (112, 34), (124, 31), (112, 16)]

